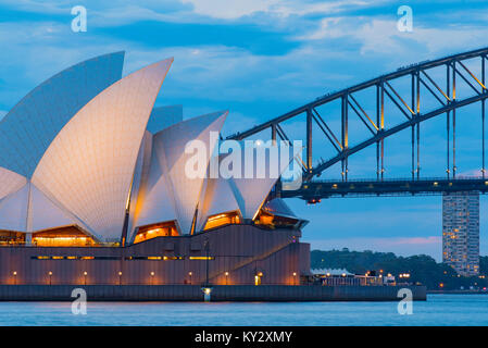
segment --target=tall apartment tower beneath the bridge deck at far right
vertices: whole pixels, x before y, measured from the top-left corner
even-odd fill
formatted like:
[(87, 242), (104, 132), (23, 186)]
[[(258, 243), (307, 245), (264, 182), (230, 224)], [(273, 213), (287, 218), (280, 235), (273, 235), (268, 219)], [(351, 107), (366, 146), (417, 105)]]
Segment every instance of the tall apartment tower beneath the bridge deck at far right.
[(442, 196), (442, 261), (458, 274), (479, 274), (479, 192)]

